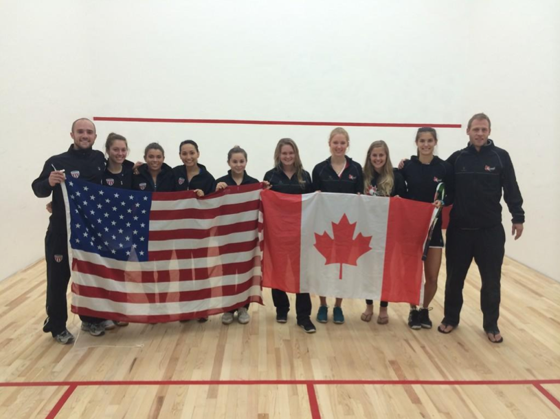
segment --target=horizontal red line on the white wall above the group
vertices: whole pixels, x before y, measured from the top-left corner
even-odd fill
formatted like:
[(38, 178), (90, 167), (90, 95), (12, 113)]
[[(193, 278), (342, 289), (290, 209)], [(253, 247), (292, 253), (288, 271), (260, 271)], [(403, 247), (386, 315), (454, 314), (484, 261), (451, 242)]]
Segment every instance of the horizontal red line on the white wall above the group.
[(235, 125), (307, 125), (313, 127), (390, 127), (390, 128), (460, 128), (460, 124), (403, 124), (386, 122), (319, 122), (319, 121), (269, 121), (244, 119), (182, 119), (182, 118), (121, 118), (94, 116), (94, 121), (109, 122), (166, 122), (175, 124), (235, 124)]

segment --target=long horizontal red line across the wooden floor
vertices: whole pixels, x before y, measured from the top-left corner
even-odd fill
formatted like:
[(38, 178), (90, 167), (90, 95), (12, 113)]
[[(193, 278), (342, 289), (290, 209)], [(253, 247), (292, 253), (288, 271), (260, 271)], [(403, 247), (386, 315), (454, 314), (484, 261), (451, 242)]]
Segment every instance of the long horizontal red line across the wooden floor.
[(91, 385), (544, 385), (552, 380), (120, 380), (37, 381), (0, 383), (0, 387), (65, 387)]

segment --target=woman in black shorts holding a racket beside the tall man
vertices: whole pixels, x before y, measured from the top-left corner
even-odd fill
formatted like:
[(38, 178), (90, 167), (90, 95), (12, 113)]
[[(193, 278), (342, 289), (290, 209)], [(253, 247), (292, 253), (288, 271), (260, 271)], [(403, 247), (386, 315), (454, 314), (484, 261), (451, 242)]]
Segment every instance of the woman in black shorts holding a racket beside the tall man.
[[(416, 155), (407, 160), (401, 169), (403, 178), (407, 184), (406, 197), (410, 200), (430, 202), (436, 207), (443, 205), (443, 201), (434, 202), (436, 188), (440, 182), (445, 183), (445, 201), (449, 204), (453, 201), (453, 168), (445, 160), (434, 155), (434, 149), (438, 144), (438, 134), (431, 127), (419, 128), (416, 133)], [(410, 306), (408, 325), (415, 330), (431, 329), (432, 321), (429, 319), (429, 304), (438, 290), (438, 274), (441, 266), (441, 255), (444, 246), (441, 232), (441, 217), (439, 217), (432, 239), (429, 242), (427, 258), (424, 261), (424, 301), (418, 310), (416, 305)]]

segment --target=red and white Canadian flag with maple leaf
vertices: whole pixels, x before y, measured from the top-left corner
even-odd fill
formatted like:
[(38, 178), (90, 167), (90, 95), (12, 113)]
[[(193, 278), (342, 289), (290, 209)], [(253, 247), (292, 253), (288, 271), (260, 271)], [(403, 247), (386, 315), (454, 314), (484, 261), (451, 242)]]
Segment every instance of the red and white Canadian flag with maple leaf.
[(400, 197), (262, 191), (263, 286), (418, 304), (432, 204)]

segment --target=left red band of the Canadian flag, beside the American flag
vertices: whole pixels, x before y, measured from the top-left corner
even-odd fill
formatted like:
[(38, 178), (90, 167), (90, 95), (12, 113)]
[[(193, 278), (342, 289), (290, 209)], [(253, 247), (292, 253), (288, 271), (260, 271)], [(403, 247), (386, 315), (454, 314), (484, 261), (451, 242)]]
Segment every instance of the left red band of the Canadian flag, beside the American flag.
[[(294, 237), (301, 237), (302, 195), (262, 191), (260, 197), (265, 215), (262, 286), (300, 292), (301, 239), (293, 243)], [(280, 252), (269, 252), (272, 242)]]

